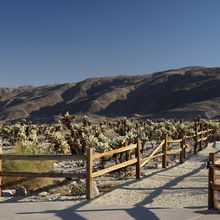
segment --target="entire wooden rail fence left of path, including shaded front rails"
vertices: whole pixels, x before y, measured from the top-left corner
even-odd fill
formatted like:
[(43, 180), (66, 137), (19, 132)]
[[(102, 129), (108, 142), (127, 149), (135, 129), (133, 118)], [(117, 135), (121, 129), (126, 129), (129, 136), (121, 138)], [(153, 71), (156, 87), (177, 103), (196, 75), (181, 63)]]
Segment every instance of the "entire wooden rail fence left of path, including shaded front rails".
[[(166, 168), (168, 165), (168, 155), (177, 154), (180, 155), (180, 163), (183, 162), (183, 159), (186, 157), (186, 148), (189, 147), (187, 140), (194, 140), (194, 154), (198, 150), (202, 150), (203, 143), (207, 145), (208, 141), (213, 137), (213, 129), (208, 129), (205, 131), (197, 132), (196, 135), (192, 136), (182, 136), (178, 140), (169, 140), (168, 135), (164, 137), (164, 140), (153, 150), (153, 152), (144, 158), (141, 158), (140, 154), (140, 141), (136, 140), (135, 144), (129, 146), (121, 147), (119, 149), (107, 151), (101, 154), (94, 154), (93, 148), (87, 148), (86, 158), (84, 156), (78, 155), (2, 155), (2, 149), (0, 148), (0, 193), (2, 188), (2, 176), (13, 176), (13, 177), (66, 177), (66, 178), (85, 178), (86, 177), (86, 198), (92, 199), (92, 184), (95, 177), (101, 176), (103, 174), (118, 170), (130, 165), (136, 166), (135, 174), (136, 178), (140, 179), (141, 168), (144, 167), (151, 159), (156, 157), (162, 157), (162, 167)], [(179, 143), (180, 147), (178, 149), (168, 149), (169, 144)], [(106, 157), (113, 154), (131, 152), (135, 151), (134, 157), (128, 159), (117, 165), (104, 168), (93, 172), (93, 161)], [(86, 160), (86, 175), (77, 174), (77, 173), (31, 173), (31, 172), (3, 172), (2, 171), (2, 160)], [(1, 194), (0, 194), (1, 195)]]

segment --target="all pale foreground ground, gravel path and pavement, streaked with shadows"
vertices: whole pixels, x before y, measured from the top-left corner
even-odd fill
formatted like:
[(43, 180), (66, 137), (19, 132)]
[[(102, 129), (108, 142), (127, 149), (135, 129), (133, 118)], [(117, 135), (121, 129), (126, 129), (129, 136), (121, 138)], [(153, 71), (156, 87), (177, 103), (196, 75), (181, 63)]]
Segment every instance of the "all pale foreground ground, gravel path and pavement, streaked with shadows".
[[(17, 207), (21, 213), (17, 215), (12, 212), (16, 217), (13, 219), (32, 215), (36, 217), (39, 213), (45, 218), (52, 215), (57, 216), (57, 219), (68, 219), (72, 215), (72, 219), (110, 219), (116, 215), (115, 212), (118, 213), (115, 219), (143, 219), (145, 215), (153, 216), (149, 219), (217, 219), (218, 214), (210, 215), (207, 211), (206, 161), (210, 152), (219, 150), (220, 142), (211, 143), (198, 155), (188, 157), (182, 164), (173, 163), (166, 169), (145, 169), (140, 180), (121, 178), (118, 180), (120, 184), (109, 192), (100, 193), (91, 201), (86, 201), (84, 197), (70, 196), (53, 199), (49, 195), (5, 197), (0, 200), (0, 212), (5, 213), (6, 209), (13, 210)], [(209, 215), (206, 216), (207, 214)], [(10, 217), (8, 212), (3, 219), (9, 219), (7, 216)]]

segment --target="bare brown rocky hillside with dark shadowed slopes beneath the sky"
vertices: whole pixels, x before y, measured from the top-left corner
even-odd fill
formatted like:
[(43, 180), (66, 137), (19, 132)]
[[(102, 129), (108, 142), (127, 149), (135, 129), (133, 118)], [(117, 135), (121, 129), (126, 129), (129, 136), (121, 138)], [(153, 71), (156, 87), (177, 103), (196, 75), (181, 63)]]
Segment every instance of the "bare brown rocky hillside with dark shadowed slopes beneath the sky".
[(66, 111), (96, 117), (220, 118), (220, 68), (186, 67), (79, 83), (0, 88), (0, 120), (53, 121)]

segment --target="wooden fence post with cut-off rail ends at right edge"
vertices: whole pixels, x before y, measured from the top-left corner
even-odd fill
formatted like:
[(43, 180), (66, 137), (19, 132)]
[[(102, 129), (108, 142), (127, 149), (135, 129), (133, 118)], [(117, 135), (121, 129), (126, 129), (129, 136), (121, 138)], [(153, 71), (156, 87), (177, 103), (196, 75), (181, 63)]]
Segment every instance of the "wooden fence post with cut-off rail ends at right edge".
[(214, 153), (209, 154), (208, 168), (208, 207), (213, 209), (216, 208), (215, 192), (220, 192), (220, 184), (216, 184), (216, 170), (220, 171), (220, 159), (217, 160)]

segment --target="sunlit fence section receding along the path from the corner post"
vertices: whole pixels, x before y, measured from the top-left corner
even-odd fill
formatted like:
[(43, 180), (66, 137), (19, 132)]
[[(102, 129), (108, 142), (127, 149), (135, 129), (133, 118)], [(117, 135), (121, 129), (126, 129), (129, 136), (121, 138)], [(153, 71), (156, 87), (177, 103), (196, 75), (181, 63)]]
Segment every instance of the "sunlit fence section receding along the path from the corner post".
[[(141, 175), (141, 168), (144, 167), (151, 159), (156, 158), (156, 157), (162, 157), (162, 167), (166, 168), (167, 167), (167, 157), (168, 155), (171, 154), (180, 154), (180, 163), (183, 162), (183, 159), (186, 157), (186, 148), (189, 147), (189, 144), (187, 144), (187, 140), (194, 139), (195, 144), (194, 144), (194, 154), (197, 153), (198, 150), (203, 149), (203, 144), (207, 146), (208, 142), (211, 141), (213, 137), (213, 129), (208, 129), (205, 131), (200, 131), (196, 135), (192, 136), (182, 136), (181, 139), (178, 140), (169, 140), (168, 135), (165, 135), (164, 140), (161, 141), (161, 143), (154, 149), (154, 151), (147, 157), (141, 158), (140, 155), (140, 141), (137, 140), (136, 144), (132, 144), (126, 147), (122, 147), (116, 150), (112, 151), (107, 151), (102, 154), (93, 154), (93, 149), (88, 148), (87, 149), (87, 169), (86, 169), (86, 185), (87, 185), (87, 194), (86, 198), (91, 199), (92, 198), (92, 184), (93, 184), (93, 178), (101, 176), (103, 174), (109, 173), (111, 171), (127, 167), (132, 164), (136, 164), (136, 178), (140, 179)], [(168, 150), (169, 144), (170, 143), (179, 143), (180, 148), (179, 149), (171, 149)], [(96, 172), (93, 172), (93, 161), (96, 159), (100, 159), (101, 157), (109, 156), (112, 154), (117, 154), (117, 153), (122, 153), (126, 151), (130, 151), (132, 149), (135, 149), (135, 158), (130, 159), (128, 161), (122, 162), (120, 164), (117, 164), (112, 167), (105, 168), (103, 170), (99, 170)], [(158, 153), (162, 151), (161, 153)], [(134, 174), (134, 173), (133, 173)]]

